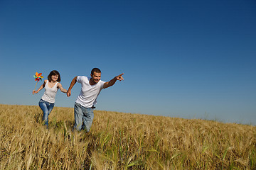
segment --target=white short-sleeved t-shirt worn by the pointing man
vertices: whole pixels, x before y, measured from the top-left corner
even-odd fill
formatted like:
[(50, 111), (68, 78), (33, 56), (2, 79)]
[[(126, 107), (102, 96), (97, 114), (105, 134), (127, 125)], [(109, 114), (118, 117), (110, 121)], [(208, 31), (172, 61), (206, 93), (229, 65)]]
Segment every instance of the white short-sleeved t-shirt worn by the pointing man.
[(97, 84), (90, 85), (90, 77), (78, 76), (77, 82), (81, 84), (81, 91), (76, 99), (76, 103), (84, 106), (85, 108), (91, 108), (97, 103), (97, 96), (99, 96), (100, 91), (103, 89), (105, 81), (100, 80)]

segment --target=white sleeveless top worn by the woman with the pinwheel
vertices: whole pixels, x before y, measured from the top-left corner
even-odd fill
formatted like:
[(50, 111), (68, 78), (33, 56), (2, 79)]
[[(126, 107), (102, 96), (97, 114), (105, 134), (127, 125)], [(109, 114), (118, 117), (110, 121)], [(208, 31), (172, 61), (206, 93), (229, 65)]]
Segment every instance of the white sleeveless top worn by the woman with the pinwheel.
[(47, 101), (49, 103), (55, 103), (55, 96), (58, 91), (58, 88), (57, 88), (58, 82), (52, 88), (48, 86), (48, 82), (49, 81), (47, 80), (46, 86), (45, 86), (45, 93), (43, 94), (42, 99), (43, 101)]

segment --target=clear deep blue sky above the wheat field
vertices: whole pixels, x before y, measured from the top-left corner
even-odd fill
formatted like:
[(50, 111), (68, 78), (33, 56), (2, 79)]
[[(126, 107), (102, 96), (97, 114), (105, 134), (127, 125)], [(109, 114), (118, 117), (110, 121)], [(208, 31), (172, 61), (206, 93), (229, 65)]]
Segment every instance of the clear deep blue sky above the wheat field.
[(0, 103), (38, 105), (36, 72), (68, 89), (99, 67), (124, 81), (97, 110), (256, 125), (255, 0), (0, 0), (0, 57)]

